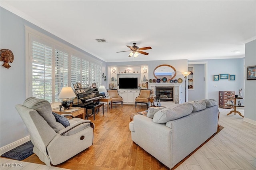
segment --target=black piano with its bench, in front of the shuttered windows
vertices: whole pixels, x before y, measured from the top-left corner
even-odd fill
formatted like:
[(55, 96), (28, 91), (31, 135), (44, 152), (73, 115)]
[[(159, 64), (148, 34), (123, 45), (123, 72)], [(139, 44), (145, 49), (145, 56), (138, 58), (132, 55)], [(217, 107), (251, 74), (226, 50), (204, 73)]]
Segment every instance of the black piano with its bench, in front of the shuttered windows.
[[(98, 109), (102, 107), (104, 114), (104, 103), (100, 103), (99, 99), (103, 98), (98, 92), (98, 88), (82, 88), (76, 90), (77, 104), (73, 104), (73, 107), (86, 108), (86, 119), (88, 119), (88, 109), (92, 109), (93, 120), (95, 120), (95, 110), (98, 113)], [(81, 101), (79, 101), (81, 100)]]

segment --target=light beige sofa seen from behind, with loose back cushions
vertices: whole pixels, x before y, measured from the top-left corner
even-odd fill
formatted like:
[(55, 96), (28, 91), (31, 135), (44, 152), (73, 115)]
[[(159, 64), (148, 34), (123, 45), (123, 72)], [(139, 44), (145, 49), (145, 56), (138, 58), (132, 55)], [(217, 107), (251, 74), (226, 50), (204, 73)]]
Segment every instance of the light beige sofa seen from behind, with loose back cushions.
[(173, 168), (217, 132), (218, 106), (215, 104), (216, 100), (204, 100), (158, 110), (149, 108), (147, 116), (135, 115), (130, 122), (132, 140), (168, 168)]

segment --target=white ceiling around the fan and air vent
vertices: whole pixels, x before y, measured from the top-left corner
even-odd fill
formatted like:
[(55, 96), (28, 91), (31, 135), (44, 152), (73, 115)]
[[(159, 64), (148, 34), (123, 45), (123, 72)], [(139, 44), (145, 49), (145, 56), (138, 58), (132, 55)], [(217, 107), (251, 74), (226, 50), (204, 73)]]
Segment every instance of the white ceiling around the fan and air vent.
[[(106, 62), (242, 58), (245, 42), (256, 38), (255, 0), (2, 0), (1, 6)], [(144, 50), (149, 55), (116, 53), (133, 42), (151, 46)]]

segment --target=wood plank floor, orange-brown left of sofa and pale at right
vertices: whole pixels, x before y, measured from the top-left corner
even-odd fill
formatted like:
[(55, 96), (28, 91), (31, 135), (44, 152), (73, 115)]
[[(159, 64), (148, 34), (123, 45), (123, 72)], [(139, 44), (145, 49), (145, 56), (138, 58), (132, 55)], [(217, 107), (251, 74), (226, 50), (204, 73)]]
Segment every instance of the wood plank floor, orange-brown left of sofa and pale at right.
[[(90, 148), (57, 165), (71, 170), (167, 170), (168, 168), (132, 143), (130, 115), (146, 106), (117, 104), (99, 112), (95, 121), (94, 144)], [(244, 115), (244, 110), (239, 110)], [(238, 114), (226, 114), (220, 108), (219, 124), (224, 127), (176, 170), (256, 170), (256, 126), (242, 121)], [(2, 158), (1, 158), (2, 162)], [(22, 162), (44, 164), (33, 154)], [(2, 168), (0, 168), (2, 170)], [(36, 168), (30, 168), (34, 170)], [(52, 170), (52, 169), (51, 169)]]

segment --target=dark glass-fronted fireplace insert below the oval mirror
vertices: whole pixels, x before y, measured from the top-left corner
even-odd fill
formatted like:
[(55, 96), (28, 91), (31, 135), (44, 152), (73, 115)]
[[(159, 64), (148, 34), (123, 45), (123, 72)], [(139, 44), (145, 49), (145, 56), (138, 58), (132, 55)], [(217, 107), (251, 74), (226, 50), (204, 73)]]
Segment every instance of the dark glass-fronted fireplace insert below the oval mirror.
[(174, 87), (156, 86), (156, 100), (160, 102), (174, 102)]

